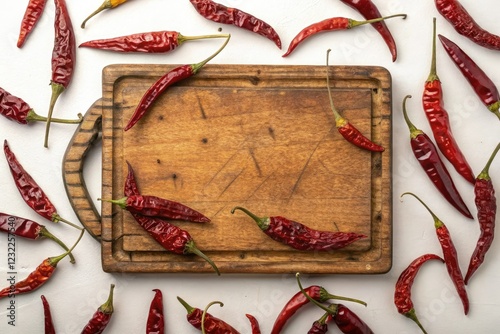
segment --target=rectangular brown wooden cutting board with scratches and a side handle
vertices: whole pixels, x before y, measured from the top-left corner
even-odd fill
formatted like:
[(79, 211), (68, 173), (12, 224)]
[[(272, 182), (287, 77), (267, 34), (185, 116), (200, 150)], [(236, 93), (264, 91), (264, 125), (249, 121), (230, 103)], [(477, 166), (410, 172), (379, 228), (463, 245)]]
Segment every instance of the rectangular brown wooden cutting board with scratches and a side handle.
[[(173, 222), (222, 273), (383, 273), (392, 263), (391, 76), (381, 67), (330, 67), (339, 112), (383, 145), (371, 153), (337, 131), (325, 66), (206, 65), (170, 87), (127, 132), (144, 92), (174, 65), (110, 65), (103, 96), (68, 146), (63, 174), (84, 226), (102, 244), (107, 272), (212, 272), (197, 256), (163, 250), (116, 205), (93, 206), (82, 176), (102, 137), (102, 198), (123, 197), (126, 162), (142, 194), (184, 203), (207, 224)], [(102, 136), (100, 136), (102, 135)], [(335, 252), (271, 240), (241, 211), (311, 228), (367, 235)]]

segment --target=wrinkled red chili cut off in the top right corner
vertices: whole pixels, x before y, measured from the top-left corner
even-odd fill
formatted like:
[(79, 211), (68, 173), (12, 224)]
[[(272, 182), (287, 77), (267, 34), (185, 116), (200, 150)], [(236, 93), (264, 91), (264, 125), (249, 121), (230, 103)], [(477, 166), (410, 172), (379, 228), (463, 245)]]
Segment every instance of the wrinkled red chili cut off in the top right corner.
[(435, 0), (438, 12), (455, 30), (482, 47), (500, 50), (500, 36), (483, 29), (458, 0)]

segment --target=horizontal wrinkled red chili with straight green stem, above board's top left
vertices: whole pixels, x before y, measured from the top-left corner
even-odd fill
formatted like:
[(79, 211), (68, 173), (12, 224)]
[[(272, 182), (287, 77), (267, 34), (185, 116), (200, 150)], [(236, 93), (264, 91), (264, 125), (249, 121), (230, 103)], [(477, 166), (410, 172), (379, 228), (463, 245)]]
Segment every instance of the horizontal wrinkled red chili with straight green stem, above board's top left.
[(79, 47), (115, 52), (166, 53), (177, 49), (187, 41), (228, 37), (227, 34), (185, 36), (177, 31), (162, 30), (91, 40), (80, 44)]

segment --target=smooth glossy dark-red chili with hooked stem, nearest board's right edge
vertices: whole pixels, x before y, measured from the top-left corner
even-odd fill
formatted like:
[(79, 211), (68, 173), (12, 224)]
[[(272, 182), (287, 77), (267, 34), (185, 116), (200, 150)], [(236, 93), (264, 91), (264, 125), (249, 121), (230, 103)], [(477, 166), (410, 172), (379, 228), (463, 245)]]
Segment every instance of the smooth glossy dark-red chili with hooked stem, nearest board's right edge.
[(422, 166), (432, 184), (434, 184), (443, 197), (461, 214), (472, 219), (473, 217), (455, 187), (448, 169), (439, 157), (436, 146), (434, 146), (429, 136), (422, 130), (417, 129), (408, 118), (406, 100), (409, 97), (411, 95), (407, 95), (403, 100), (403, 115), (410, 129), (410, 145), (415, 158), (417, 158), (420, 166)]

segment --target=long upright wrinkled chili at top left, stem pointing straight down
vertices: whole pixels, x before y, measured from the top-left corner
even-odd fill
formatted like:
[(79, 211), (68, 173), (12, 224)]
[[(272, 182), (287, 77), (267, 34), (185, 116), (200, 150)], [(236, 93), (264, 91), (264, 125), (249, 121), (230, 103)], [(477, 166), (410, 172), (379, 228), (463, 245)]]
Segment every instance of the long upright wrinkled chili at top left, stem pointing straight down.
[(75, 33), (66, 7), (66, 0), (54, 0), (56, 14), (54, 19), (54, 49), (52, 50), (52, 96), (45, 126), (44, 146), (49, 147), (49, 129), (52, 113), (57, 99), (68, 88), (76, 61)]

